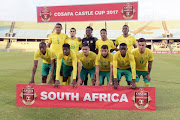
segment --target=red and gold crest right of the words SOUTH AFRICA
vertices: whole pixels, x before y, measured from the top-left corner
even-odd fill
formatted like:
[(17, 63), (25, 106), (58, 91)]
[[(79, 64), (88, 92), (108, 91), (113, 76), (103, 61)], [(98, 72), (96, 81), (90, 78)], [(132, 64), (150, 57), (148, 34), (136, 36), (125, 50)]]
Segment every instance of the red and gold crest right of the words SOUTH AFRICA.
[(143, 88), (140, 88), (138, 91), (136, 91), (132, 99), (134, 101), (134, 105), (138, 109), (147, 108), (151, 100), (149, 92), (144, 91)]

